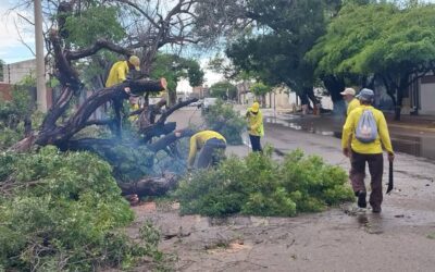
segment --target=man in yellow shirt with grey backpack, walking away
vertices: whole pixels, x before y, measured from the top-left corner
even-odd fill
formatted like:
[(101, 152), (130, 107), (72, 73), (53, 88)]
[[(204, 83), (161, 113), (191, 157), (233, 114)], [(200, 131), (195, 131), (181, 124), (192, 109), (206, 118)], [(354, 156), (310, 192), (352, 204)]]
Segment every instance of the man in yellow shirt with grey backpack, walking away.
[[(388, 160), (394, 161), (394, 151), (384, 114), (372, 107), (374, 92), (362, 89), (357, 96), (361, 106), (352, 110), (343, 127), (341, 148), (346, 157), (351, 156), (351, 184), (358, 206), (366, 207), (364, 185), (365, 162), (371, 175), (370, 205), (372, 211), (381, 212), (383, 200), (382, 176), (384, 172), (383, 146), (388, 152)], [(350, 140), (350, 149), (349, 149)]]

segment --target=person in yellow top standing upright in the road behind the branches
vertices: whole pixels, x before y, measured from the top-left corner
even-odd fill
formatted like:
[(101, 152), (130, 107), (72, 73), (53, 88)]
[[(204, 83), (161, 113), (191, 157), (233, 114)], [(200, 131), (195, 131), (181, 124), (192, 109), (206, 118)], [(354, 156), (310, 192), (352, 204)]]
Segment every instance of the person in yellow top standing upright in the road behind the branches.
[(253, 102), (252, 107), (246, 113), (248, 120), (248, 134), (251, 141), (252, 151), (262, 151), (261, 137), (264, 136), (263, 114), (260, 111), (260, 104)]

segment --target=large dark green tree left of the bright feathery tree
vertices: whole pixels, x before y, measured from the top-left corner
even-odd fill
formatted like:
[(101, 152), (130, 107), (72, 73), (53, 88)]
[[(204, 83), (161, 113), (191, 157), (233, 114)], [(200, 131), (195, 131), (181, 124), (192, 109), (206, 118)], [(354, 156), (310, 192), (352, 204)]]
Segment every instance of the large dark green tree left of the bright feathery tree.
[[(249, 1), (248, 10), (258, 30), (243, 35), (226, 54), (244, 71), (253, 72), (268, 85), (286, 84), (308, 103), (318, 103), (313, 90), (313, 66), (303, 55), (323, 35), (327, 11), (339, 1)], [(335, 4), (333, 4), (335, 3)], [(331, 8), (334, 7), (334, 8)]]

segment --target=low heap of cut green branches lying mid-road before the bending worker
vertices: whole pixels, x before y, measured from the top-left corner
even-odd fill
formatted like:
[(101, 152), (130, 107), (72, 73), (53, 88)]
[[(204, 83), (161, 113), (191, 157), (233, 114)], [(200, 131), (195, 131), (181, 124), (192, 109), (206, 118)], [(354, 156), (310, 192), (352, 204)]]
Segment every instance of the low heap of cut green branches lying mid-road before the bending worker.
[(320, 157), (296, 150), (279, 163), (268, 149), (264, 154), (233, 157), (216, 169), (195, 172), (179, 183), (174, 196), (182, 214), (293, 217), (352, 200), (347, 181), (343, 169)]

